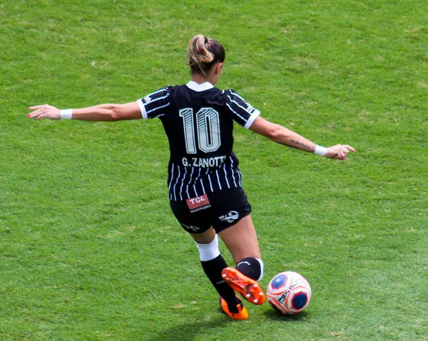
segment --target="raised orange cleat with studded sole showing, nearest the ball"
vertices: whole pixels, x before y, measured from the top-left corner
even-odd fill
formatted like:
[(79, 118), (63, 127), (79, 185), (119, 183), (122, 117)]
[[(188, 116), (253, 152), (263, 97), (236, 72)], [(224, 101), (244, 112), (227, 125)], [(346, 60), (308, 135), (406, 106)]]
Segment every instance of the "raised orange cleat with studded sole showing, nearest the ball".
[(243, 295), (243, 298), (248, 300), (248, 302), (257, 305), (265, 303), (265, 293), (257, 281), (252, 280), (235, 268), (230, 267), (224, 268), (221, 272), (221, 276), (233, 290)]

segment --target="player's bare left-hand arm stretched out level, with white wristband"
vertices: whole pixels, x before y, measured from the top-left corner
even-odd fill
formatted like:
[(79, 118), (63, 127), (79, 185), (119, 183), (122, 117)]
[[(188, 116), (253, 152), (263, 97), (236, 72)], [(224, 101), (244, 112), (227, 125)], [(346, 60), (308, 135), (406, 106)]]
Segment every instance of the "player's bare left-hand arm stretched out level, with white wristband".
[(93, 107), (83, 107), (81, 109), (59, 110), (51, 105), (36, 105), (29, 107), (34, 110), (29, 113), (29, 118), (41, 120), (49, 118), (51, 120), (61, 120), (61, 118), (84, 120), (84, 121), (118, 121), (118, 120), (138, 120), (141, 116), (138, 103), (126, 104), (101, 104)]

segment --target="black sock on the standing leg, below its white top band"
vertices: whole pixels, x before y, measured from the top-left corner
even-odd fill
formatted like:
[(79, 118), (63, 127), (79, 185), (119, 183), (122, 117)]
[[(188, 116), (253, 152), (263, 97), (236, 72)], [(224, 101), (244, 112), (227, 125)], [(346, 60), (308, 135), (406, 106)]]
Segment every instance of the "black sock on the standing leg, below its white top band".
[(210, 261), (201, 261), (205, 275), (213, 283), (215, 290), (220, 294), (223, 300), (228, 303), (230, 313), (238, 313), (238, 300), (236, 299), (235, 290), (233, 290), (228, 283), (221, 277), (221, 271), (228, 267), (228, 264), (223, 259), (223, 256), (218, 256)]

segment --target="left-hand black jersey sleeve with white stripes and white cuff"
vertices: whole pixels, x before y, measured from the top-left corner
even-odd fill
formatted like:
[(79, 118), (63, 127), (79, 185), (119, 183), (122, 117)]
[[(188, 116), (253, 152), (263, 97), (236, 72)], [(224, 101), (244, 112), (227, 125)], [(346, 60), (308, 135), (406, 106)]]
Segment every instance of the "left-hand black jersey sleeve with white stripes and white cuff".
[(170, 86), (159, 89), (145, 98), (137, 100), (141, 116), (145, 120), (165, 115), (170, 110)]

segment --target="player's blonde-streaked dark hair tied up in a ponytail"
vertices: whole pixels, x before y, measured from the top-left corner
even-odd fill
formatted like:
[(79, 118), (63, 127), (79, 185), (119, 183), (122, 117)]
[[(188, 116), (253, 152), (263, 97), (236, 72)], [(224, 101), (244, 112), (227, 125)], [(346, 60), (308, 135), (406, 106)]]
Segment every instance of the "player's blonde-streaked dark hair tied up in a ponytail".
[(225, 61), (225, 49), (215, 39), (199, 34), (190, 39), (188, 56), (191, 73), (207, 75), (215, 63)]

